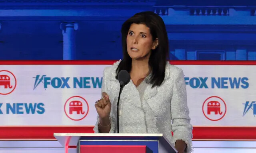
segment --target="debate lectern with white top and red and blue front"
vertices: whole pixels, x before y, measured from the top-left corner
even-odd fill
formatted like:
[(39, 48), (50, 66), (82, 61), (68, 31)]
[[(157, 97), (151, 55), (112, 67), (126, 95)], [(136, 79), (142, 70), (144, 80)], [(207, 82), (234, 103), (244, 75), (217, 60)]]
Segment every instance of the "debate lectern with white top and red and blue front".
[[(54, 133), (65, 153), (177, 153), (163, 134)], [(74, 151), (76, 150), (76, 151)]]

